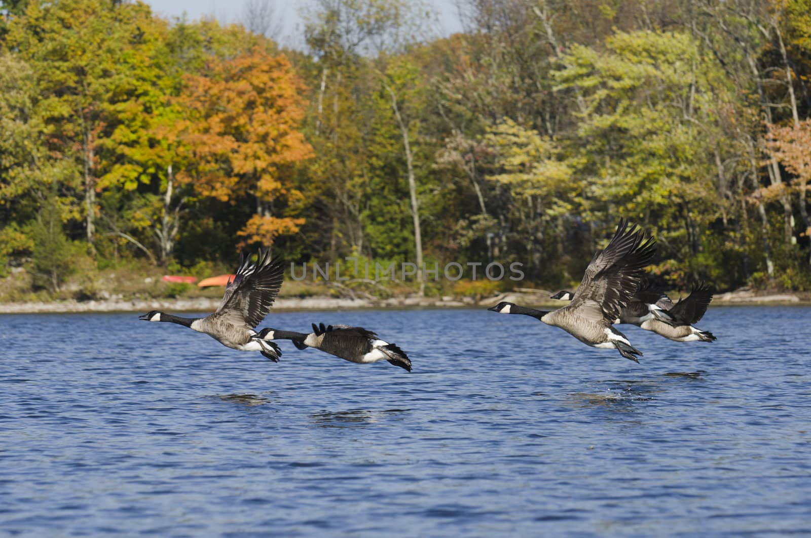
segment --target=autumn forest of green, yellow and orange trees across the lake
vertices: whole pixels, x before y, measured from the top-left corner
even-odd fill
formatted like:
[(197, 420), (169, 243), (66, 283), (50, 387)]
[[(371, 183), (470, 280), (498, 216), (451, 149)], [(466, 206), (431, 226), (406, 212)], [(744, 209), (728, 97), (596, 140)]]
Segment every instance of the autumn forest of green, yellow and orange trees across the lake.
[[(37, 297), (260, 245), (556, 288), (620, 216), (672, 286), (811, 291), (811, 0), (465, 0), (447, 37), (416, 2), (317, 0), (303, 49), (137, 1), (0, 6), (0, 277)], [(477, 285), (421, 272), (397, 285)]]

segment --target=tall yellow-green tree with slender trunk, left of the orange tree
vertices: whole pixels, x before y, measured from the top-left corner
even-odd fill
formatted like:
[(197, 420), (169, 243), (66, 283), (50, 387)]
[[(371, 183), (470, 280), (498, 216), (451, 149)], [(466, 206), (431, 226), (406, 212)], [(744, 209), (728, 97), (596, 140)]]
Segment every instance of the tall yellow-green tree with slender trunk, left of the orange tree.
[(30, 2), (9, 25), (9, 47), (19, 50), (36, 74), (49, 144), (81, 170), (88, 241), (96, 230), (103, 140), (116, 123), (114, 105), (128, 97), (117, 92), (122, 77), (130, 75), (120, 60), (139, 45), (139, 24), (150, 17), (148, 6), (140, 3)]

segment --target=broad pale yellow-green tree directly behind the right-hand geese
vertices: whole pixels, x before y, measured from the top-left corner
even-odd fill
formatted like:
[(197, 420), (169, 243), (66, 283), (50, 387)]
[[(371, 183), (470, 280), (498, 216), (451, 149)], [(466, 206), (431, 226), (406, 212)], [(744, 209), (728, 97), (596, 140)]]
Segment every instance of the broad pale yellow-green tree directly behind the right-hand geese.
[(653, 225), (667, 257), (695, 258), (724, 203), (704, 151), (720, 134), (717, 70), (678, 32), (620, 32), (603, 53), (574, 46), (565, 65), (559, 88), (577, 87), (586, 102), (567, 144), (586, 180), (580, 214), (619, 211)]

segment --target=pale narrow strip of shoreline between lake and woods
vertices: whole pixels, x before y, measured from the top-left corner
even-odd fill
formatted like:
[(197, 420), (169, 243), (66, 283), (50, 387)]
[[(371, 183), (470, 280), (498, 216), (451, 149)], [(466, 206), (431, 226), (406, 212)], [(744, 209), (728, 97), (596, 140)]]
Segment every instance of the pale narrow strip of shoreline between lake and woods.
[[(276, 311), (298, 310), (363, 310), (404, 308), (476, 308), (510, 301), (525, 305), (560, 307), (560, 301), (548, 299), (546, 290), (521, 290), (506, 292), (494, 297), (392, 297), (389, 299), (348, 299), (340, 297), (281, 297), (273, 304)], [(104, 301), (53, 301), (0, 303), (0, 314), (82, 314), (114, 312), (148, 312), (150, 310), (174, 310), (176, 312), (213, 312), (220, 305), (219, 298), (174, 298), (174, 299), (109, 299)], [(711, 306), (807, 306), (808, 298), (795, 293), (771, 293), (757, 295), (748, 289), (719, 293)]]

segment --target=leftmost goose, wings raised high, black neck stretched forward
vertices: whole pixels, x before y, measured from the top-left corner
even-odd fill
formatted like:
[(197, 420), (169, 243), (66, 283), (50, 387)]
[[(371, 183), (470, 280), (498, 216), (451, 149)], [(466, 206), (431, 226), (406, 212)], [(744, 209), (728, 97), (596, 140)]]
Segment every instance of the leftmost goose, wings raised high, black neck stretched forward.
[(240, 351), (258, 351), (278, 362), (281, 349), (277, 344), (251, 337), (254, 327), (264, 319), (281, 288), (285, 267), (280, 259), (271, 260), (270, 250), (261, 249), (255, 263), (245, 253), (239, 256), (239, 267), (225, 287), (219, 308), (205, 318), (180, 318), (152, 310), (139, 319), (148, 322), (170, 322), (184, 325), (216, 339), (220, 344)]

